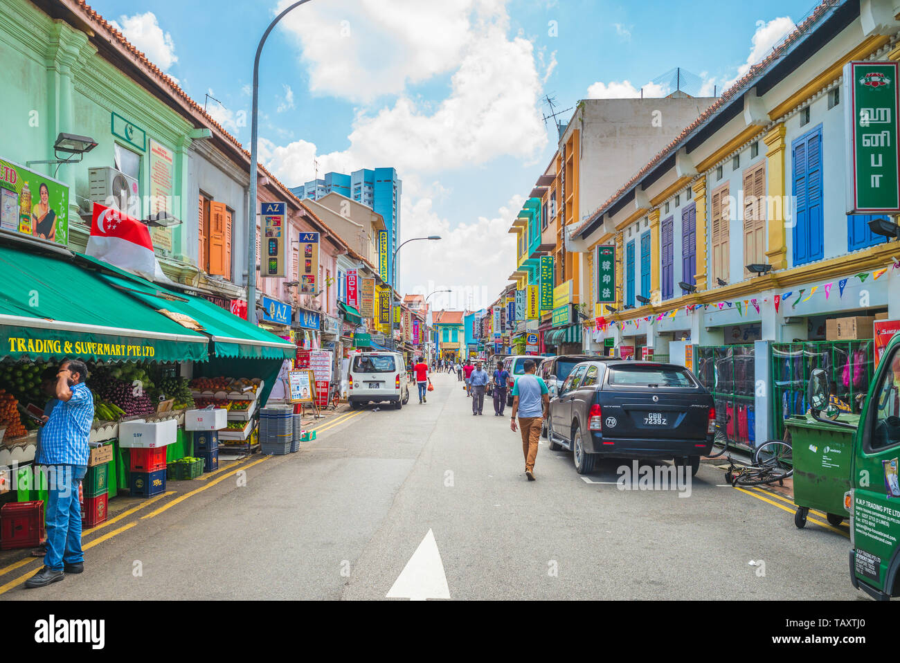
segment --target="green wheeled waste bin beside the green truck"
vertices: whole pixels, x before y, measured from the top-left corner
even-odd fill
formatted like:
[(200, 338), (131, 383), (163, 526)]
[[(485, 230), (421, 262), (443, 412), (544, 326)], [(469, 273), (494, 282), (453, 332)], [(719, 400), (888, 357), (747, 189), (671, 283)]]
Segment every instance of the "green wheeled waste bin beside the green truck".
[[(857, 426), (860, 416), (842, 413), (838, 420)], [(824, 511), (829, 523), (841, 524), (847, 517), (843, 497), (851, 488), (856, 431), (808, 416), (785, 419), (785, 428), (791, 435), (794, 462), (794, 524), (803, 527), (811, 508)]]

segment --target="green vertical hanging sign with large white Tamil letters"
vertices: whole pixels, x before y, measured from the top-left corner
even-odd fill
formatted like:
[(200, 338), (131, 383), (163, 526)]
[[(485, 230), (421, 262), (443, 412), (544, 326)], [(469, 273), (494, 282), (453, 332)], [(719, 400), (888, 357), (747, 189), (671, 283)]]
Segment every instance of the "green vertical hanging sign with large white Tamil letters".
[(900, 212), (897, 145), (898, 63), (848, 62), (843, 68), (847, 213)]

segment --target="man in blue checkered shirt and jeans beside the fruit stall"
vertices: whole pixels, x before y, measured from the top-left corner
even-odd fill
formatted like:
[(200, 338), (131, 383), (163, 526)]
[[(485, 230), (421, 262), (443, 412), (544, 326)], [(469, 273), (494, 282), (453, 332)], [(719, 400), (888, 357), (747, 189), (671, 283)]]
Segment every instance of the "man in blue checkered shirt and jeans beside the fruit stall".
[(44, 587), (85, 570), (81, 550), (81, 506), (78, 488), (87, 472), (87, 445), (94, 421), (94, 397), (85, 384), (87, 367), (77, 359), (62, 363), (57, 373), (59, 402), (40, 431), (41, 465), (48, 467), (47, 554), (44, 568), (25, 587)]

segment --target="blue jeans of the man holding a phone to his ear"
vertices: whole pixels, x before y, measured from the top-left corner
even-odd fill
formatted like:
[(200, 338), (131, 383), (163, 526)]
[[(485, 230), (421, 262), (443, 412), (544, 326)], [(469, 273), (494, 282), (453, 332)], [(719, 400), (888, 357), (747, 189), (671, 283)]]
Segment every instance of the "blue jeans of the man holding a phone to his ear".
[(85, 478), (85, 465), (50, 465), (47, 497), (47, 552), (44, 566), (61, 571), (63, 563), (83, 562), (81, 551), (81, 506), (78, 487)]

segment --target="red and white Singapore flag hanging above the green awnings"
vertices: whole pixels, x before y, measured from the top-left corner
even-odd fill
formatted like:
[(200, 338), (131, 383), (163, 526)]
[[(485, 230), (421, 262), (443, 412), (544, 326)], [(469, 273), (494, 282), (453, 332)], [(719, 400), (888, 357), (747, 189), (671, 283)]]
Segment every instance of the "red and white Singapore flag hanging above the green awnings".
[(147, 226), (115, 208), (94, 202), (85, 253), (149, 281), (170, 282), (153, 253)]

